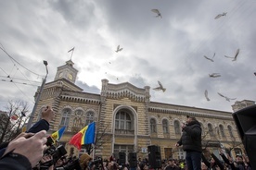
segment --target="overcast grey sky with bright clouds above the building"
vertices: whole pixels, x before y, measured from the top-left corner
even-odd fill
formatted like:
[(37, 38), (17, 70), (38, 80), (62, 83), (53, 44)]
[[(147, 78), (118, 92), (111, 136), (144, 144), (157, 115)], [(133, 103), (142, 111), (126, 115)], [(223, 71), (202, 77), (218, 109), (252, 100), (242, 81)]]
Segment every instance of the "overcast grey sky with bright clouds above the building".
[[(235, 101), (256, 101), (255, 8), (255, 0), (0, 0), (0, 109), (22, 100), (32, 110), (43, 60), (52, 81), (75, 47), (84, 91), (99, 94), (109, 79), (150, 86), (153, 102), (232, 112)], [(237, 49), (237, 61), (224, 57)], [(152, 90), (158, 80), (165, 92)]]

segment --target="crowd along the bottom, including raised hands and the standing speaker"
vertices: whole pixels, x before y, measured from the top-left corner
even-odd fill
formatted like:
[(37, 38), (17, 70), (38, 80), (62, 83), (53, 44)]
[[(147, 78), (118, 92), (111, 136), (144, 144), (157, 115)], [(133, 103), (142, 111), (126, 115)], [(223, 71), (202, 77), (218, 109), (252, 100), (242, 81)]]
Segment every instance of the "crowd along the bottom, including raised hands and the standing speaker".
[(45, 107), (42, 112), (42, 119), (35, 123), (27, 132), (9, 143), (0, 145), (0, 169), (3, 170), (251, 170), (249, 158), (245, 155), (237, 155), (236, 160), (220, 149), (222, 159), (213, 154), (210, 150), (202, 150), (201, 128), (195, 117), (187, 116), (186, 124), (182, 126), (182, 137), (175, 144), (176, 147), (183, 147), (186, 152), (186, 160), (175, 160), (169, 158), (162, 160), (160, 167), (152, 167), (147, 158), (139, 158), (133, 167), (130, 164), (119, 164), (114, 156), (109, 159), (96, 158), (84, 153), (79, 158), (67, 157), (63, 146), (58, 148), (47, 144), (46, 131), (55, 113), (51, 106)]

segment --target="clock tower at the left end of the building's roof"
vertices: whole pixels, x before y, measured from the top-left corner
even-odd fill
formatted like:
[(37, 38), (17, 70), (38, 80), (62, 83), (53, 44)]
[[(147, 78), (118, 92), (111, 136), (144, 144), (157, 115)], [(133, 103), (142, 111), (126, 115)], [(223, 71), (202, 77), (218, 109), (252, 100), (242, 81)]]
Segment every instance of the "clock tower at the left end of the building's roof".
[(78, 70), (73, 67), (74, 63), (69, 60), (66, 61), (66, 65), (57, 68), (57, 73), (54, 80), (57, 79), (68, 79), (70, 82), (75, 83), (75, 79)]

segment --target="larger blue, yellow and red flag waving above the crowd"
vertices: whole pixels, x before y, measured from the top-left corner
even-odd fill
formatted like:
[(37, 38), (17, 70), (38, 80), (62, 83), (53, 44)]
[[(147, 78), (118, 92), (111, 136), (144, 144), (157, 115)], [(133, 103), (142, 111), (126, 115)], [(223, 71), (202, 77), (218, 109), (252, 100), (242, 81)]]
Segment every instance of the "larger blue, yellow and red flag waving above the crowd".
[(77, 134), (75, 134), (71, 140), (70, 144), (74, 145), (78, 150), (81, 150), (81, 146), (84, 144), (91, 144), (95, 142), (95, 122), (87, 125)]

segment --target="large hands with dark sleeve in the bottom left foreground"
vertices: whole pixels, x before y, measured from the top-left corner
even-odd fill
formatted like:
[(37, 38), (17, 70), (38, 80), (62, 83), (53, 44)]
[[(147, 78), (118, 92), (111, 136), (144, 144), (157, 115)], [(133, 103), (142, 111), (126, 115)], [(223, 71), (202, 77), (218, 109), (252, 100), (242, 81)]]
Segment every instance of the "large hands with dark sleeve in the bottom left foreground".
[(34, 135), (21, 133), (9, 142), (0, 158), (1, 170), (31, 170), (43, 157), (46, 141), (45, 130)]

